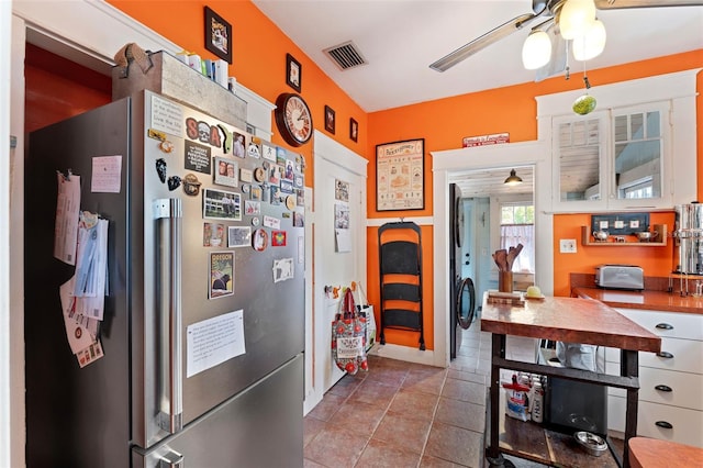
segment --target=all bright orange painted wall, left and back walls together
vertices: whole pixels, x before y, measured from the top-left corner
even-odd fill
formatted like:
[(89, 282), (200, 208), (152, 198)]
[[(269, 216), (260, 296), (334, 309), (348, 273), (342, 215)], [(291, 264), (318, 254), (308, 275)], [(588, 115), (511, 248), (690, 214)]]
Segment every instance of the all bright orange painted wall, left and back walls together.
[[(551, 78), (542, 82), (492, 89), (459, 97), (440, 99), (404, 108), (390, 109), (373, 113), (365, 113), (332, 80), (322, 73), (302, 52), (278, 30), (249, 1), (120, 1), (108, 0), (126, 14), (135, 18), (170, 41), (194, 52), (204, 58), (214, 58), (203, 46), (203, 7), (207, 4), (233, 25), (233, 65), (230, 75), (237, 81), (275, 102), (281, 92), (291, 92), (286, 85), (286, 53), (290, 53), (302, 64), (301, 94), (313, 111), (315, 126), (324, 129), (324, 105), (336, 112), (336, 135), (330, 135), (338, 143), (369, 159), (368, 166), (368, 218), (388, 219), (389, 212), (376, 211), (376, 145), (402, 140), (425, 138), (425, 209), (399, 211), (393, 213), (393, 221), (401, 216), (432, 216), (432, 157), (431, 152), (461, 147), (461, 138), (471, 135), (509, 132), (511, 142), (531, 141), (537, 137), (536, 96), (581, 89), (582, 76), (572, 75), (570, 80), (563, 77)], [(177, 5), (170, 8), (167, 5)], [(168, 12), (165, 8), (169, 8)], [(643, 78), (651, 75), (668, 74), (701, 67), (703, 48), (684, 54), (656, 58), (589, 71), (589, 79), (594, 88), (622, 80)], [(457, 70), (448, 73), (459, 73)], [(703, 123), (703, 75), (698, 78), (698, 122)], [(358, 143), (349, 140), (348, 121), (354, 118), (359, 122)], [(699, 124), (699, 127), (701, 124)], [(274, 135), (274, 142), (284, 142)], [(698, 135), (698, 161), (703, 161), (703, 132)], [(308, 160), (305, 176), (312, 183), (312, 145), (297, 149)], [(699, 198), (703, 199), (703, 175), (698, 171)], [(658, 215), (657, 215), (658, 216)], [(652, 219), (655, 215), (652, 214)], [(580, 230), (588, 224), (585, 218), (556, 215), (555, 239), (568, 234), (569, 238), (579, 238), (572, 230)], [(654, 222), (654, 221), (652, 221)], [(672, 224), (672, 223), (668, 223)], [(379, 311), (379, 277), (377, 229), (367, 230), (368, 247), (368, 287), (369, 301)], [(422, 226), (423, 234), (423, 298), (424, 323), (427, 348), (432, 349), (433, 323), (433, 230)], [(563, 257), (555, 253), (555, 291), (567, 293), (565, 278), (569, 271), (590, 271), (596, 265), (595, 258), (607, 255), (609, 261), (631, 261), (633, 254), (637, 263), (647, 264), (647, 275), (665, 275), (670, 268), (671, 252), (669, 247), (617, 247), (601, 252), (598, 247), (581, 247), (579, 253)], [(604, 249), (605, 250), (605, 249)], [(616, 260), (616, 257), (620, 260)], [(639, 258), (641, 257), (641, 258)], [(629, 260), (628, 260), (629, 259)], [(651, 264), (649, 263), (651, 259)], [(668, 259), (668, 260), (667, 260)], [(446, 313), (446, 311), (440, 311)], [(378, 314), (377, 314), (378, 315)], [(398, 343), (415, 347), (416, 334), (391, 333), (388, 343)]]

